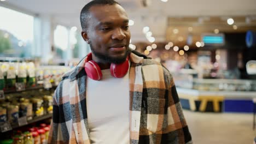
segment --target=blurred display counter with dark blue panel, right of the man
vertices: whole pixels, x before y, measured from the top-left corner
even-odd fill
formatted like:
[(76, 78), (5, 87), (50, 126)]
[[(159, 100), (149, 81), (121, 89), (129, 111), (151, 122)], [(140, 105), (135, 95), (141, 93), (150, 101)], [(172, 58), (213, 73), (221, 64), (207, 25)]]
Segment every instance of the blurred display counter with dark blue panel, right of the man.
[(197, 79), (188, 73), (173, 74), (185, 109), (214, 112), (253, 112), (256, 80)]

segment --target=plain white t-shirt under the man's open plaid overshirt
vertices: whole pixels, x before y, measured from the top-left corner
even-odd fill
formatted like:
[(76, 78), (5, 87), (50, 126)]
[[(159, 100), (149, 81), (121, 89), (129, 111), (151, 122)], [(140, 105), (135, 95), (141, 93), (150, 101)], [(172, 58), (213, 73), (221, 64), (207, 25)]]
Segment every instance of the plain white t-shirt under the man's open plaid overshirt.
[(88, 77), (86, 105), (92, 143), (130, 143), (129, 73), (123, 78), (102, 70), (102, 80)]

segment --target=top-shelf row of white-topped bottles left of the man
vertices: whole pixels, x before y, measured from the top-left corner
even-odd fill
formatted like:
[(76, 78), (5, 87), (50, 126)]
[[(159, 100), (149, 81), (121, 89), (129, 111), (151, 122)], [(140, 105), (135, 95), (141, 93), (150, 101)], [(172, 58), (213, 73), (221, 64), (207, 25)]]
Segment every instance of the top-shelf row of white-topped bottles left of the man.
[(25, 88), (45, 86), (46, 83), (56, 86), (68, 69), (64, 66), (35, 67), (33, 62), (0, 59), (0, 91), (13, 90), (16, 83), (22, 83)]

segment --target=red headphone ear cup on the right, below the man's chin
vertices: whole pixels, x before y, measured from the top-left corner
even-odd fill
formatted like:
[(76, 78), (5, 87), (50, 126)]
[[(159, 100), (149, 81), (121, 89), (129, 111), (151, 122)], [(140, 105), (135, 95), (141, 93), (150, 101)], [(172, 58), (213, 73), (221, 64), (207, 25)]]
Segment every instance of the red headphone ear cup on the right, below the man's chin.
[(129, 59), (127, 58), (124, 63), (110, 65), (110, 73), (113, 77), (124, 77), (129, 69)]

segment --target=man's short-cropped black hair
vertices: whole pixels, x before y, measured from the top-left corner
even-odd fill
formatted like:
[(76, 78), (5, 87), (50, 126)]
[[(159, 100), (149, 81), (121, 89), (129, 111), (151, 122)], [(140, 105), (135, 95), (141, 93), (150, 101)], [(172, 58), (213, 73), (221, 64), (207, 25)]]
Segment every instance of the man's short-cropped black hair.
[(93, 7), (95, 5), (114, 5), (114, 4), (119, 4), (119, 3), (114, 0), (93, 0), (93, 1), (89, 2), (88, 4), (86, 4), (80, 13), (80, 22), (81, 22), (83, 31), (85, 31), (85, 29), (87, 27), (86, 22), (88, 21), (88, 18), (90, 15), (89, 9), (91, 7)]

